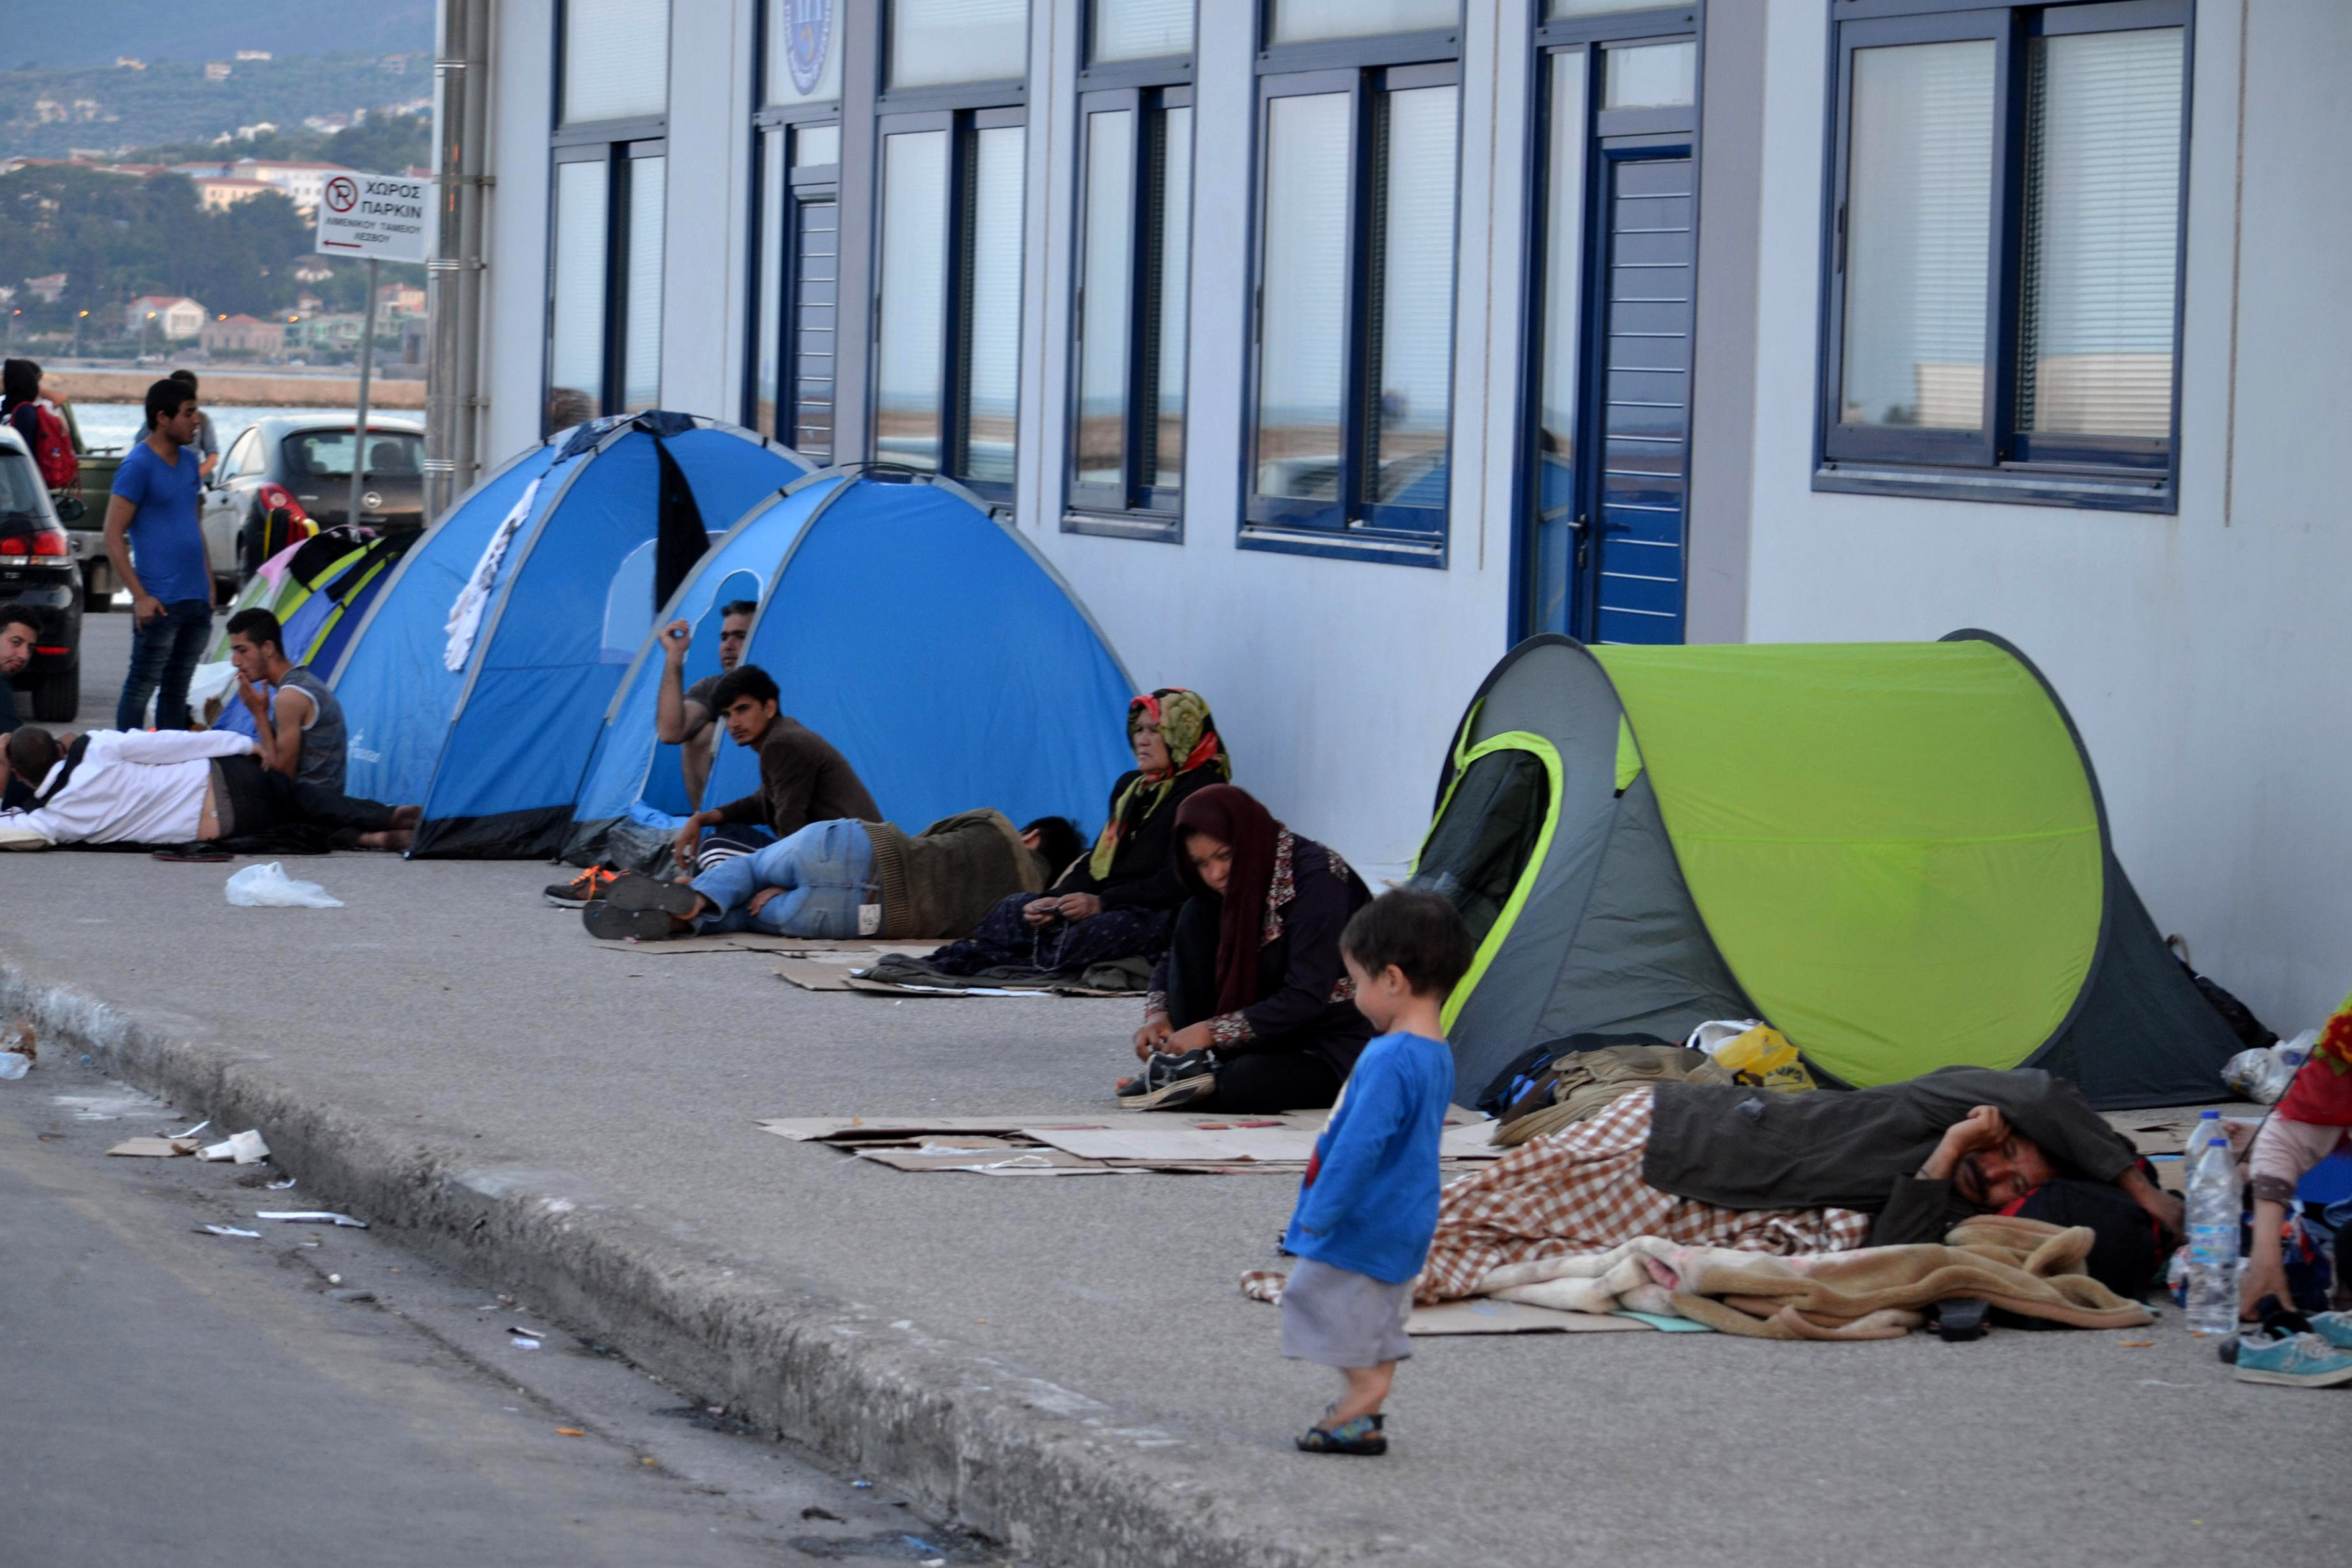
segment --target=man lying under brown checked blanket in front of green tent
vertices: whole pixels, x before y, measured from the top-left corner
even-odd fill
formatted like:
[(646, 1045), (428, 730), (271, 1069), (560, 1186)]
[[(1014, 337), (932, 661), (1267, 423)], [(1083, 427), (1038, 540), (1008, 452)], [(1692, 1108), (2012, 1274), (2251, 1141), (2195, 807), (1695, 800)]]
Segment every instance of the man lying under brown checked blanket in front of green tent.
[[(2070, 1222), (2154, 1260), (2180, 1234), (2131, 1145), (2049, 1072), (1943, 1067), (1907, 1084), (1771, 1093), (1656, 1084), (1534, 1138), (1444, 1192), (1421, 1300), (1489, 1269), (1632, 1237), (1757, 1253), (1943, 1241), (1973, 1213)], [(2096, 1272), (2096, 1269), (2093, 1269)], [(2145, 1284), (2145, 1272), (2140, 1281)]]

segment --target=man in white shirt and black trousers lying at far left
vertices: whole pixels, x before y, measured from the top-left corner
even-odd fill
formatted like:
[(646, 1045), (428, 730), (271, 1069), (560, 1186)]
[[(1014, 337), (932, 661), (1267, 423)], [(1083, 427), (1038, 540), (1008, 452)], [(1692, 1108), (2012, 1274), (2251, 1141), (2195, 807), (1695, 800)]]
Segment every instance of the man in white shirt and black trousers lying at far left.
[(247, 736), (219, 729), (96, 729), (61, 748), (26, 724), (7, 738), (12, 773), (38, 778), (26, 811), (0, 811), (9, 849), (191, 844), (325, 830), (334, 846), (407, 849), (419, 806), (381, 806), (273, 773)]

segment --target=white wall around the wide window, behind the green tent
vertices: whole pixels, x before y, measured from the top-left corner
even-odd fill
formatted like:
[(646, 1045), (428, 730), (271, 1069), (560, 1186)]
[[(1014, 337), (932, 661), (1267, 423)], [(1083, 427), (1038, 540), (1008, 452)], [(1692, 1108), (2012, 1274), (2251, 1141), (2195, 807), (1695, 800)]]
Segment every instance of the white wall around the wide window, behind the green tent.
[(1748, 635), (2016, 642), (2157, 926), (2272, 1027), (2317, 1023), (2352, 985), (2352, 7), (2253, 5), (2234, 289), (2241, 12), (2197, 7), (2180, 515), (2157, 517), (1813, 494), (1825, 19), (1771, 5)]

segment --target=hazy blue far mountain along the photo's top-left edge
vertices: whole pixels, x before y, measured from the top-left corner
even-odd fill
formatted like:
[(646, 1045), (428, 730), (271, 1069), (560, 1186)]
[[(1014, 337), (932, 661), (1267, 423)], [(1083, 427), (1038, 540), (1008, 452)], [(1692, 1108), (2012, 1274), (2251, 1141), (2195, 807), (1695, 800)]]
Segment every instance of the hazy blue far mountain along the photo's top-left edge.
[[(433, 47), (433, 0), (103, 0), (94, 9), (12, 0), (0, 26), (0, 63), (111, 66), (233, 61), (238, 49), (273, 54), (419, 54)], [(162, 141), (162, 136), (146, 136)]]

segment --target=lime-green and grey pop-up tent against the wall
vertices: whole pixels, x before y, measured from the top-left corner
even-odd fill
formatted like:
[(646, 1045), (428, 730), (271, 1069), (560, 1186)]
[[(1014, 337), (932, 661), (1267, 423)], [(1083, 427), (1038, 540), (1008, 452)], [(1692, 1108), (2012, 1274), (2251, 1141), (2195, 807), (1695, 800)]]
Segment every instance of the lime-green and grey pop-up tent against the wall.
[(2091, 759), (1990, 632), (1534, 637), (1472, 698), (1416, 882), (1479, 938), (1479, 1093), (1569, 1034), (1766, 1018), (1832, 1084), (2049, 1067), (2100, 1107), (2220, 1093), (2237, 1037), (2107, 844)]

